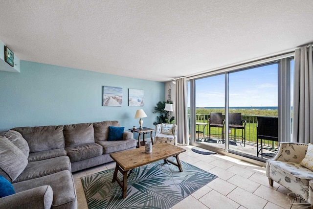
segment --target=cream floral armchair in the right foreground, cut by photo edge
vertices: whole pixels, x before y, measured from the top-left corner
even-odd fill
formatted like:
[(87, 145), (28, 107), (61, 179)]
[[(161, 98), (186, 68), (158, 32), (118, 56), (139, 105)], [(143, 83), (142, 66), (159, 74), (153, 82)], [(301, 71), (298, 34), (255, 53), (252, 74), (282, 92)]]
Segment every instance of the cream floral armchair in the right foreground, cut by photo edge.
[(266, 175), (270, 186), (275, 181), (313, 205), (313, 144), (280, 142), (266, 163)]

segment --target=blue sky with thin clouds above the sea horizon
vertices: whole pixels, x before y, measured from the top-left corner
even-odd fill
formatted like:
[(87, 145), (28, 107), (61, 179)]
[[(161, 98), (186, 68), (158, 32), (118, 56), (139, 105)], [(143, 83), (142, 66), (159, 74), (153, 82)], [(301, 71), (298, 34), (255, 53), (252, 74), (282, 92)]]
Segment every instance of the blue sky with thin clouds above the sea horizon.
[[(277, 106), (277, 67), (275, 63), (229, 73), (229, 106)], [(196, 107), (224, 107), (224, 82), (224, 74), (196, 80)]]

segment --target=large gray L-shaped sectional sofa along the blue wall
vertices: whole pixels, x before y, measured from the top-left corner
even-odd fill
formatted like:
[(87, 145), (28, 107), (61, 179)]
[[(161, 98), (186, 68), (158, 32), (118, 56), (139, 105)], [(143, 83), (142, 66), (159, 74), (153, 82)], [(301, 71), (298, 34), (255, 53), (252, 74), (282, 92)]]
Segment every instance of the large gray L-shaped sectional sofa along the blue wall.
[(134, 149), (131, 132), (107, 140), (118, 121), (13, 128), (0, 136), (0, 175), (15, 194), (0, 198), (0, 208), (76, 209), (71, 172), (112, 161), (110, 153)]

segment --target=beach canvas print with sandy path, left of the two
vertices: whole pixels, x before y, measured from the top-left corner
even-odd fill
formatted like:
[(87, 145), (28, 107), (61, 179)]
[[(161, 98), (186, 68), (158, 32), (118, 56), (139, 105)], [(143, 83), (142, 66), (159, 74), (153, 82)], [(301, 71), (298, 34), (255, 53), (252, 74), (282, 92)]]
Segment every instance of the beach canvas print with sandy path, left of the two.
[(118, 87), (103, 87), (103, 106), (122, 106), (123, 89)]

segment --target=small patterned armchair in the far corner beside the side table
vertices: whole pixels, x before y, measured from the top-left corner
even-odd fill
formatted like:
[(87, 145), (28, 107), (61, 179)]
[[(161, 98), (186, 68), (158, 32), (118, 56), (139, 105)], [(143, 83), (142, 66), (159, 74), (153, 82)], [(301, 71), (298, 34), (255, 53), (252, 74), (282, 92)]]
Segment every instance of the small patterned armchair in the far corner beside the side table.
[(156, 125), (156, 143), (177, 145), (177, 125), (160, 123)]

